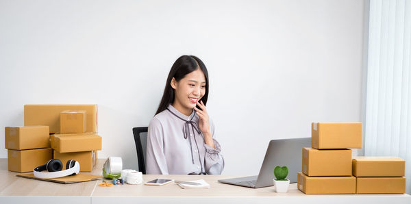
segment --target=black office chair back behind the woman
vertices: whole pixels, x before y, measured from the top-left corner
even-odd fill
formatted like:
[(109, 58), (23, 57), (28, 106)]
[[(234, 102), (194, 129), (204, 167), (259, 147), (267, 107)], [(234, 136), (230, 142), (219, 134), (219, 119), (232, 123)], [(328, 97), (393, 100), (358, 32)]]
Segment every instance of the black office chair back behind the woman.
[(145, 175), (145, 162), (147, 151), (147, 131), (148, 127), (134, 127), (133, 135), (136, 142), (138, 171)]

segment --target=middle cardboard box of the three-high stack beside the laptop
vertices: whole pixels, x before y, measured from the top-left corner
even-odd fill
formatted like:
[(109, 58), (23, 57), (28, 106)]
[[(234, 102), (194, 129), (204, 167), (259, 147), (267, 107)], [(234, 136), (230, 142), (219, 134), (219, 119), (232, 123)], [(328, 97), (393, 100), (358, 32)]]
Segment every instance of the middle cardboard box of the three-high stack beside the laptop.
[(351, 149), (303, 148), (303, 173), (314, 176), (351, 176)]

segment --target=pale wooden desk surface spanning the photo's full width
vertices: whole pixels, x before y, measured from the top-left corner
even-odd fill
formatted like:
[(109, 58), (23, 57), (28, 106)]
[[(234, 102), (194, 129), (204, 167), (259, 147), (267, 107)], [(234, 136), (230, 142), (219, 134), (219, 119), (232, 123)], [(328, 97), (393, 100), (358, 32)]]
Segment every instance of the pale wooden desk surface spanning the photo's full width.
[[(104, 160), (97, 162), (92, 175), (101, 175)], [(219, 179), (238, 176), (227, 175), (143, 175), (144, 181), (156, 178), (176, 180), (204, 179), (210, 183), (210, 189), (182, 189), (175, 183), (166, 186), (119, 185), (110, 188), (100, 187), (101, 181), (60, 184), (48, 181), (38, 181), (16, 177), (18, 173), (7, 170), (7, 159), (0, 159), (0, 203), (26, 202), (30, 203), (136, 203), (136, 202), (167, 202), (167, 203), (273, 203), (285, 201), (288, 203), (411, 203), (408, 194), (333, 194), (306, 195), (297, 190), (297, 184), (290, 184), (287, 193), (277, 193), (274, 187), (244, 188), (240, 186), (219, 183)], [(69, 199), (64, 199), (70, 196)], [(337, 199), (338, 198), (338, 199)], [(60, 201), (60, 200), (62, 201)], [(50, 201), (50, 202), (49, 202)]]

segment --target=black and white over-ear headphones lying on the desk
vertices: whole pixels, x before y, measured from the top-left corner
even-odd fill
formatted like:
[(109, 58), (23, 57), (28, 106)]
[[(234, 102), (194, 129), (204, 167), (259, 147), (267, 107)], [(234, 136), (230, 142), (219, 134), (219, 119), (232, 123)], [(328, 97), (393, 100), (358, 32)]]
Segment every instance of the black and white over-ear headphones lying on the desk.
[[(37, 166), (33, 172), (35, 177), (44, 179), (72, 176), (79, 173), (80, 164), (75, 160), (69, 160), (66, 163), (66, 170), (62, 169), (62, 162), (58, 159), (53, 159), (42, 166)], [(47, 170), (49, 173), (43, 173), (43, 170)]]

